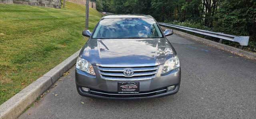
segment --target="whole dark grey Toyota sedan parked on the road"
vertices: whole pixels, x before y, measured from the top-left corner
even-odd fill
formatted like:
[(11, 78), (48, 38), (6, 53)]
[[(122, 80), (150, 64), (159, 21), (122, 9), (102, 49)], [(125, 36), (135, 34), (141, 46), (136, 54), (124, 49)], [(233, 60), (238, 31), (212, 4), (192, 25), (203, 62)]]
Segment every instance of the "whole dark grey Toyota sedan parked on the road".
[(175, 94), (180, 62), (166, 36), (149, 15), (104, 16), (76, 62), (80, 95), (105, 99), (146, 99)]

